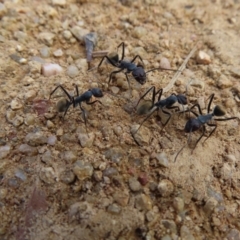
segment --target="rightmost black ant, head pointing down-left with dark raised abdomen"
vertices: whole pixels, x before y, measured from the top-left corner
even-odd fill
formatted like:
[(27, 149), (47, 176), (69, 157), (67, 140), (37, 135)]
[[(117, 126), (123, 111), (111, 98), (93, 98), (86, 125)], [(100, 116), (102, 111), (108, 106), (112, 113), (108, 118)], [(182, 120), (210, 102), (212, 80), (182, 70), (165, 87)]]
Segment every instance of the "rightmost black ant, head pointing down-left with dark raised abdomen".
[[(203, 135), (205, 134), (205, 131), (206, 131), (206, 127), (205, 127), (205, 124), (207, 124), (208, 126), (210, 127), (213, 127), (212, 131), (210, 132), (210, 134), (208, 135), (208, 137), (204, 140), (204, 142), (215, 132), (216, 128), (217, 128), (217, 124), (216, 123), (209, 123), (211, 120), (214, 120), (214, 121), (228, 121), (228, 120), (232, 120), (232, 119), (236, 119), (237, 117), (229, 117), (229, 118), (214, 118), (214, 116), (217, 116), (217, 117), (222, 117), (224, 116), (226, 113), (225, 111), (219, 106), (219, 105), (216, 105), (213, 109), (212, 112), (210, 107), (211, 107), (211, 104), (212, 104), (212, 101), (213, 101), (213, 98), (214, 98), (214, 94), (210, 95), (210, 100), (209, 100), (209, 103), (208, 103), (208, 108), (207, 108), (207, 114), (203, 115), (202, 114), (202, 110), (200, 108), (200, 105), (197, 103), (195, 105), (193, 105), (188, 111), (193, 113), (196, 118), (190, 118), (186, 125), (185, 125), (185, 128), (184, 128), (184, 131), (186, 133), (190, 133), (189, 134), (189, 137), (188, 137), (188, 140), (187, 140), (187, 143), (178, 151), (174, 161), (177, 160), (177, 157), (179, 155), (179, 153), (183, 150), (183, 148), (189, 144), (190, 142), (190, 139), (191, 139), (191, 134), (192, 132), (195, 132), (197, 131), (198, 129), (202, 128), (202, 134), (201, 136), (198, 138), (198, 140), (196, 141), (193, 149), (192, 149), (192, 152), (193, 150), (195, 149), (195, 147), (197, 146), (198, 142), (202, 139)], [(194, 112), (192, 109), (197, 107), (198, 108), (198, 111), (200, 113), (197, 114), (196, 112)]]

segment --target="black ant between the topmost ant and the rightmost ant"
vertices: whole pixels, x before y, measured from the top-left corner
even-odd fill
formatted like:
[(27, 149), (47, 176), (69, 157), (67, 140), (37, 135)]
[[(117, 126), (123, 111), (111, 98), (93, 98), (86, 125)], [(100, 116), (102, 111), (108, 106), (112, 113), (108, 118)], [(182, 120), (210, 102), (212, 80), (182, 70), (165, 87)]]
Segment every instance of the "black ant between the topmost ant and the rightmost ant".
[[(165, 113), (166, 115), (168, 115), (168, 119), (166, 120), (166, 122), (163, 124), (163, 128), (168, 124), (169, 120), (172, 117), (172, 114), (169, 111), (166, 110), (170, 110), (170, 109), (178, 109), (179, 110), (179, 106), (173, 106), (175, 103), (179, 103), (182, 105), (186, 105), (187, 104), (187, 98), (185, 95), (183, 94), (172, 94), (169, 97), (162, 99), (161, 100), (161, 96), (163, 93), (163, 89), (161, 88), (160, 90), (158, 90), (156, 92), (156, 88), (155, 86), (149, 88), (147, 90), (147, 92), (145, 92), (140, 99), (138, 100), (138, 103), (136, 105), (136, 107), (138, 106), (139, 102), (141, 101), (141, 99), (143, 99), (150, 91), (153, 91), (152, 94), (152, 101), (151, 101), (151, 107), (148, 109), (148, 111), (150, 112), (150, 114), (142, 121), (142, 123), (140, 124), (139, 128), (137, 129), (137, 131), (140, 129), (140, 127), (142, 126), (142, 124), (156, 111), (156, 110), (162, 110), (163, 113)], [(158, 101), (155, 102), (155, 98), (158, 94)], [(181, 112), (184, 112), (181, 111)], [(162, 130), (163, 130), (162, 128)], [(137, 133), (136, 131), (136, 133)]]

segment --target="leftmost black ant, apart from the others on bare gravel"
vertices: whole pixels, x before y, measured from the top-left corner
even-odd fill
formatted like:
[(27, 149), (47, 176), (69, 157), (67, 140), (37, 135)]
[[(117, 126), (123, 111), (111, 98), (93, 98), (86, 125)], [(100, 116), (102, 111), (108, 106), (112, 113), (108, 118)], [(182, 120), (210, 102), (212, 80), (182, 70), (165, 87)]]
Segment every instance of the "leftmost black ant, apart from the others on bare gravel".
[[(86, 113), (84, 108), (82, 107), (81, 103), (85, 102), (88, 105), (92, 105), (96, 102), (101, 103), (99, 100), (95, 100), (93, 102), (90, 102), (92, 96), (97, 97), (97, 98), (101, 98), (103, 97), (103, 93), (102, 90), (99, 88), (91, 88), (88, 91), (84, 92), (83, 94), (79, 95), (79, 91), (78, 91), (78, 87), (76, 86), (76, 92), (77, 92), (77, 96), (73, 97), (71, 96), (67, 90), (62, 86), (62, 85), (58, 85), (50, 94), (49, 99), (51, 98), (52, 94), (58, 89), (61, 88), (63, 90), (63, 92), (67, 95), (68, 99), (64, 99), (63, 101), (59, 101), (59, 103), (57, 104), (57, 108), (59, 112), (64, 112), (63, 118), (65, 117), (65, 115), (67, 114), (67, 111), (69, 109), (69, 107), (71, 105), (73, 105), (73, 107), (75, 108), (78, 104), (80, 106), (80, 109), (83, 112), (83, 118), (84, 118), (84, 123), (86, 126), (87, 120), (86, 120)], [(102, 104), (102, 103), (101, 103)]]

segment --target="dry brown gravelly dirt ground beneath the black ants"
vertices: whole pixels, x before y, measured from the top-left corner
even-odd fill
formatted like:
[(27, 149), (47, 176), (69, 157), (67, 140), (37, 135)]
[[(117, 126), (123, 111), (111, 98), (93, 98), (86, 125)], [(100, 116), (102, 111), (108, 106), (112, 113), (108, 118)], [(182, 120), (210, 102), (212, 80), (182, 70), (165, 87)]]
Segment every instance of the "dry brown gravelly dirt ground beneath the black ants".
[[(131, 77), (130, 97), (124, 73), (108, 86), (116, 68), (106, 61), (87, 71), (81, 41), (95, 32), (97, 52), (124, 42), (126, 59), (139, 54), (146, 71), (178, 69), (193, 50), (162, 99), (185, 94), (206, 114), (214, 93), (219, 118), (240, 117), (238, 0), (2, 0), (0, 19), (0, 239), (240, 239), (238, 119), (218, 121), (203, 143), (207, 126), (192, 152), (194, 132), (174, 161), (189, 114), (163, 131), (164, 116), (152, 115), (134, 134), (145, 117), (134, 106), (178, 72), (149, 72), (144, 85)], [(45, 63), (63, 71), (46, 77)], [(56, 112), (60, 89), (48, 100), (59, 84), (75, 96), (75, 85), (103, 90), (102, 104), (82, 105), (87, 128), (79, 107), (64, 120)]]

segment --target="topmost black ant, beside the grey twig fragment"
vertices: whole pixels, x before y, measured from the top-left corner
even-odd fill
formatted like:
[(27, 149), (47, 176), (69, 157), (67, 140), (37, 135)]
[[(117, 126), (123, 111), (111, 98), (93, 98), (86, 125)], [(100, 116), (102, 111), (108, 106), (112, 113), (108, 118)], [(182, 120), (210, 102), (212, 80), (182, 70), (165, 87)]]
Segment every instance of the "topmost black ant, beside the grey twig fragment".
[(122, 71), (125, 70), (125, 69), (126, 69), (125, 76), (126, 76), (127, 81), (128, 81), (128, 87), (129, 87), (129, 89), (131, 89), (131, 88), (130, 88), (130, 81), (129, 81), (129, 78), (128, 78), (128, 74), (129, 74), (129, 73), (132, 73), (133, 78), (134, 78), (138, 83), (140, 83), (141, 85), (143, 85), (144, 83), (146, 83), (146, 79), (147, 79), (147, 75), (146, 75), (146, 74), (147, 74), (148, 72), (152, 72), (152, 71), (154, 71), (154, 70), (159, 70), (159, 69), (160, 69), (160, 70), (169, 70), (169, 71), (178, 71), (178, 70), (174, 70), (174, 69), (167, 69), (167, 68), (161, 68), (161, 67), (159, 67), (159, 68), (153, 68), (153, 69), (151, 69), (151, 70), (149, 70), (149, 71), (146, 72), (146, 71), (144, 70), (144, 68), (143, 68), (143, 65), (141, 65), (141, 64), (138, 64), (138, 65), (134, 64), (134, 61), (135, 61), (137, 58), (139, 58), (139, 59), (141, 60), (141, 62), (143, 62), (142, 58), (141, 58), (139, 55), (136, 55), (136, 56), (132, 59), (132, 61), (130, 61), (130, 62), (123, 60), (124, 57), (125, 57), (125, 43), (122, 42), (121, 44), (118, 45), (117, 48), (119, 48), (119, 47), (121, 47), (121, 46), (122, 46), (122, 57), (121, 57), (121, 59), (119, 59), (119, 56), (118, 56), (118, 55), (117, 55), (117, 56), (114, 56), (113, 58), (108, 57), (108, 56), (106, 55), (106, 56), (104, 56), (104, 57), (102, 58), (102, 60), (101, 60), (100, 63), (98, 64), (98, 69), (99, 69), (99, 67), (101, 66), (103, 60), (106, 58), (106, 59), (108, 60), (108, 62), (109, 62), (112, 66), (117, 67), (117, 68), (120, 68), (120, 70), (116, 70), (116, 71), (113, 71), (113, 72), (110, 73), (108, 84), (110, 84), (110, 82), (111, 82), (111, 80), (112, 80), (113, 74), (122, 72)]

